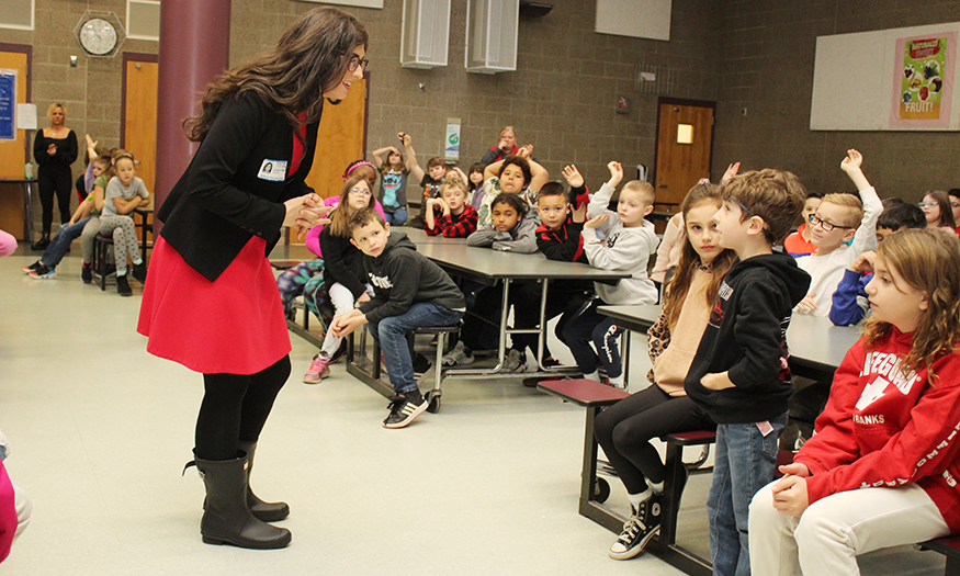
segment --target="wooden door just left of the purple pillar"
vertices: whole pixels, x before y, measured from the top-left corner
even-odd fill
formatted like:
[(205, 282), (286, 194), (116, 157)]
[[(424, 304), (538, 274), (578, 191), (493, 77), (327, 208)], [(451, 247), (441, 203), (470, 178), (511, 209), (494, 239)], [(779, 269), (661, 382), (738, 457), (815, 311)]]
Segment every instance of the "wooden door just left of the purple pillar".
[(134, 153), (137, 176), (154, 199), (157, 173), (157, 74), (156, 57), (128, 58), (124, 66), (123, 147)]

